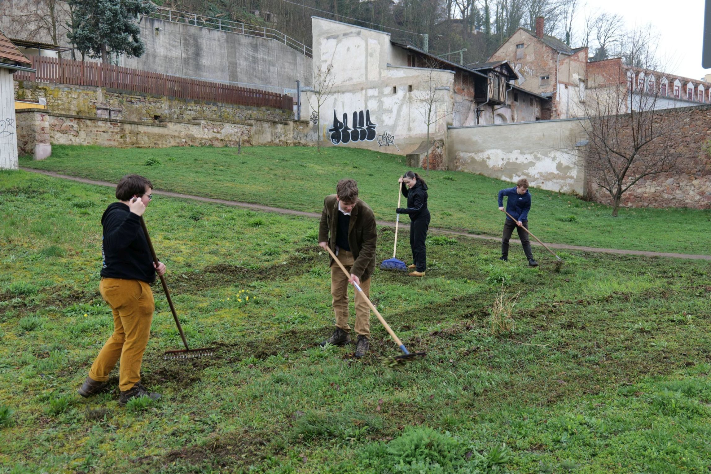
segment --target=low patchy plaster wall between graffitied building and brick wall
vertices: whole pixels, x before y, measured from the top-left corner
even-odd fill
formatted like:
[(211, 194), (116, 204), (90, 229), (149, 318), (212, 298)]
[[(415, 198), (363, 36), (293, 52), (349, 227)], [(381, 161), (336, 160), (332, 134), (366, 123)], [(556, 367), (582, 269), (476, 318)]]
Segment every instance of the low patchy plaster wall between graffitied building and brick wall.
[(577, 120), (452, 127), (447, 166), (534, 188), (584, 193), (584, 166), (574, 147), (584, 139)]

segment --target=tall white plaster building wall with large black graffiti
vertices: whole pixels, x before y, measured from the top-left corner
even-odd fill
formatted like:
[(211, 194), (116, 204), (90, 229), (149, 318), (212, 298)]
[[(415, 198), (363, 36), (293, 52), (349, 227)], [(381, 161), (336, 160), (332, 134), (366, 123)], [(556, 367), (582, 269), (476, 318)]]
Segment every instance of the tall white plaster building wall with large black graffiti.
[[(347, 114), (350, 128), (353, 112), (368, 111), (370, 122), (375, 124), (375, 138), (335, 146), (401, 154), (417, 149), (427, 136), (417, 95), (429, 87), (429, 70), (402, 65), (407, 64), (407, 54), (390, 44), (387, 33), (316, 17), (312, 18), (312, 26), (314, 73), (332, 64), (335, 80), (331, 95), (321, 107), (319, 134), (323, 143), (332, 145), (329, 129), (333, 128), (334, 110), (340, 122), (344, 122), (343, 114)], [(454, 72), (434, 70), (432, 80), (441, 87), (437, 90), (441, 101), (438, 109), (448, 114), (454, 103)], [(315, 104), (315, 97), (311, 97), (311, 106)], [(451, 121), (451, 116), (430, 127), (431, 140), (444, 137), (448, 119)]]

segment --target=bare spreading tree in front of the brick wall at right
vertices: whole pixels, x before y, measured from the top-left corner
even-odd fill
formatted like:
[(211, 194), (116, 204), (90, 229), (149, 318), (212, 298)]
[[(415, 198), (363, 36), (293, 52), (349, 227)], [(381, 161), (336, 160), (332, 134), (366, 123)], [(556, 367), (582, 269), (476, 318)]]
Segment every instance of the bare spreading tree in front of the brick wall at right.
[(675, 114), (661, 110), (663, 72), (651, 31), (632, 31), (624, 39), (629, 63), (592, 78), (583, 104), (587, 117), (580, 119), (588, 138), (587, 176), (609, 194), (614, 217), (638, 181), (674, 168), (668, 137), (678, 132)]

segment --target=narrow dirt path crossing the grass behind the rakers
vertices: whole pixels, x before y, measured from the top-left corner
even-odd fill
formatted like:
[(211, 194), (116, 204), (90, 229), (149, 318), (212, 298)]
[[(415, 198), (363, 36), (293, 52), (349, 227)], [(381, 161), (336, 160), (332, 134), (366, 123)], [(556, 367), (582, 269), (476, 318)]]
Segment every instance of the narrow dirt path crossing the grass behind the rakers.
[[(95, 181), (95, 180), (91, 180), (91, 179), (87, 179), (87, 178), (77, 178), (76, 176), (68, 176), (68, 175), (55, 173), (54, 171), (35, 170), (32, 168), (20, 168), (20, 169), (23, 171), (30, 171), (31, 173), (41, 173), (41, 174), (44, 174), (47, 176), (53, 176), (54, 178), (62, 178), (62, 179), (68, 179), (71, 181), (77, 181), (79, 183), (93, 184), (93, 185), (99, 185), (99, 186), (111, 186), (112, 188), (114, 188), (116, 186), (115, 183), (108, 183), (107, 181)], [(169, 196), (171, 198), (192, 199), (192, 200), (202, 201), (203, 203), (231, 205), (231, 206), (237, 206), (239, 208), (248, 208), (248, 209), (261, 210), (261, 211), (266, 211), (266, 212), (277, 212), (279, 214), (300, 215), (303, 217), (316, 217), (316, 218), (321, 217), (321, 214), (318, 212), (306, 212), (306, 211), (302, 211), (302, 210), (272, 208), (271, 206), (267, 206), (267, 205), (252, 204), (252, 203), (240, 203), (240, 201), (230, 201), (230, 200), (225, 200), (225, 199), (203, 198), (202, 196), (194, 196), (194, 195), (190, 195), (190, 194), (181, 194), (181, 193), (171, 193), (170, 191), (161, 191), (158, 189), (155, 189), (153, 192), (156, 194), (159, 194), (159, 195)], [(378, 225), (395, 227), (395, 222), (378, 220)], [(401, 223), (400, 225), (407, 225), (407, 224)], [(456, 230), (438, 229), (437, 227), (430, 227), (429, 231), (435, 232), (438, 234), (445, 234), (445, 235), (462, 235), (464, 237), (471, 237), (474, 239), (496, 240), (496, 241), (501, 239), (501, 237), (491, 237), (491, 235), (470, 234), (469, 232), (457, 232)], [(516, 239), (511, 239), (511, 242), (520, 244), (520, 241), (518, 241)], [(540, 247), (540, 244), (538, 242), (535, 242), (535, 240), (533, 240), (533, 239), (531, 241), (531, 244), (537, 245), (538, 247)], [(672, 258), (677, 258), (677, 259), (693, 259), (693, 260), (710, 260), (711, 261), (711, 255), (675, 254), (673, 252), (648, 252), (646, 250), (601, 249), (598, 247), (580, 247), (578, 245), (567, 245), (567, 244), (548, 244), (548, 243), (546, 243), (546, 245), (552, 249), (579, 250), (582, 252), (602, 252), (602, 253), (606, 253), (606, 254), (621, 254), (621, 255), (645, 255), (646, 257), (672, 257)]]

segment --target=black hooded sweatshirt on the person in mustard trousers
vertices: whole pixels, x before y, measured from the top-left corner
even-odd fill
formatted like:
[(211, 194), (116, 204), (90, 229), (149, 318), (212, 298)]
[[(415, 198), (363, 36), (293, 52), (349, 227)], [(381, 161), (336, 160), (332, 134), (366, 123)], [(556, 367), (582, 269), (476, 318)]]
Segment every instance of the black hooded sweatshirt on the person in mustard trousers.
[(104, 226), (101, 276), (156, 281), (151, 249), (141, 228), (141, 217), (124, 203), (109, 204), (101, 217)]

